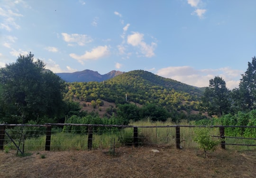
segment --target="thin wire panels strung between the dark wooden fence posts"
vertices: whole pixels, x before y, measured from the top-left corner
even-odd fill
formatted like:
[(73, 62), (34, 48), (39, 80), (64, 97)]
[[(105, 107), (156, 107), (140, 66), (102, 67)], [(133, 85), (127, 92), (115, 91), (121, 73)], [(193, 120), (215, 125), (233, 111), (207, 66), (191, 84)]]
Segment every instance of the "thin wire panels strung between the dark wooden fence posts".
[[(180, 146), (182, 148), (195, 148), (194, 126), (181, 126)], [(43, 151), (46, 148), (46, 127), (27, 126), (27, 127), (7, 127), (5, 129), (14, 142), (19, 143), (22, 135), (24, 136), (25, 151)], [(211, 127), (210, 135), (219, 136), (219, 128)], [(16, 149), (11, 139), (4, 137), (4, 149)], [(112, 149), (120, 146), (157, 146), (175, 147), (176, 130), (175, 126), (157, 127), (138, 127), (137, 142), (134, 142), (134, 127), (92, 127), (91, 149)], [(21, 144), (21, 146), (23, 146)], [(244, 140), (241, 138), (233, 139), (227, 136), (226, 144), (228, 149), (241, 149), (241, 144), (256, 145), (256, 140)], [(234, 146), (234, 144), (238, 144)], [(239, 145), (240, 144), (240, 145)], [(244, 149), (245, 147), (243, 147)], [(248, 149), (248, 148), (246, 148)], [(88, 150), (88, 128), (84, 129), (81, 125), (73, 127), (55, 126), (51, 129), (50, 139), (51, 151), (72, 151)]]

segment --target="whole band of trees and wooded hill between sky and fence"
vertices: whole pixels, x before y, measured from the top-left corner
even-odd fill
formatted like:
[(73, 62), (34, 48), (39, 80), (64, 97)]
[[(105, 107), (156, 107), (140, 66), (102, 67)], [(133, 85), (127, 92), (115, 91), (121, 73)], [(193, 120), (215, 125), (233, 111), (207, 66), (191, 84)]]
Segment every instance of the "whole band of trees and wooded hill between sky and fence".
[[(97, 112), (81, 111), (77, 100), (91, 102), (93, 107), (104, 105), (102, 100), (115, 103), (116, 107), (108, 108), (101, 122), (119, 124), (145, 118), (152, 121), (171, 118), (174, 122), (206, 119), (201, 113), (208, 113), (208, 120), (248, 113), (256, 109), (256, 58), (248, 62), (238, 89), (227, 89), (226, 82), (219, 76), (211, 79), (209, 87), (204, 89), (203, 92), (142, 70), (103, 82), (66, 83), (29, 53), (0, 69), (0, 123), (99, 120)], [(92, 120), (84, 119), (91, 116)]]

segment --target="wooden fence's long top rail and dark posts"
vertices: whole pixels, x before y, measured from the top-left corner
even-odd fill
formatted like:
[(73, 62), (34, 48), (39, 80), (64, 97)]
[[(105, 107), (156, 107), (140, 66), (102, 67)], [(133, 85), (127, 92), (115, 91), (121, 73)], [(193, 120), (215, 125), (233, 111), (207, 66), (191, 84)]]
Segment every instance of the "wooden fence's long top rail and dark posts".
[[(256, 144), (233, 144), (233, 143), (226, 143), (225, 138), (234, 138), (234, 139), (251, 139), (256, 140), (256, 138), (244, 138), (244, 137), (230, 137), (225, 136), (225, 128), (227, 127), (240, 127), (240, 128), (256, 128), (256, 126), (237, 126), (237, 125), (151, 125), (151, 126), (136, 126), (136, 125), (96, 125), (96, 124), (55, 124), (55, 123), (46, 123), (45, 125), (26, 125), (26, 124), (0, 124), (0, 150), (4, 149), (5, 143), (5, 135), (8, 133), (6, 132), (6, 127), (46, 127), (46, 141), (45, 141), (45, 150), (50, 151), (51, 148), (51, 135), (52, 135), (52, 126), (87, 126), (88, 127), (88, 144), (87, 149), (92, 149), (92, 135), (93, 135), (93, 127), (116, 127), (116, 128), (133, 128), (133, 145), (137, 147), (139, 145), (138, 142), (138, 128), (168, 128), (168, 127), (175, 127), (175, 144), (176, 148), (181, 148), (181, 134), (180, 130), (181, 127), (210, 127), (210, 128), (219, 128), (219, 136), (212, 136), (212, 137), (219, 137), (221, 138), (220, 147), (225, 149), (225, 145), (241, 145), (241, 146), (256, 146)], [(17, 149), (19, 149), (17, 147)]]

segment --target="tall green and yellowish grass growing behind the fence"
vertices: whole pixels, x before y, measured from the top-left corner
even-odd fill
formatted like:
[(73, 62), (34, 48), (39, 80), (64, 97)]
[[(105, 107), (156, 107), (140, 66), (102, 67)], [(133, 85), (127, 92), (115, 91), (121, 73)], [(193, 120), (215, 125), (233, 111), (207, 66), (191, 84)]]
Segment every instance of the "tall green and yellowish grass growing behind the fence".
[[(130, 122), (130, 125), (136, 126), (166, 126), (176, 125), (171, 120), (166, 122), (152, 122), (150, 118), (137, 122)], [(193, 122), (186, 120), (181, 121), (179, 125), (195, 125)], [(211, 128), (211, 135), (219, 135), (219, 128)], [(181, 146), (183, 148), (196, 148), (197, 143), (194, 139), (193, 127), (180, 127)], [(175, 127), (155, 127), (155, 128), (138, 128), (138, 140), (140, 145), (158, 145), (158, 146), (171, 146), (175, 147), (176, 130)], [(122, 130), (115, 130), (114, 132), (102, 132), (93, 134), (92, 149), (111, 149), (115, 140), (115, 147), (121, 145), (132, 145), (133, 142), (133, 128), (125, 128)], [(18, 142), (16, 140), (15, 142)], [(256, 144), (255, 140), (237, 140), (226, 139), (228, 143), (243, 143), (243, 144)], [(25, 140), (26, 151), (42, 151), (45, 149), (46, 136), (41, 135), (38, 137), (31, 137)], [(8, 149), (16, 149), (14, 144), (6, 141)], [(6, 147), (6, 148), (7, 148)], [(72, 134), (62, 132), (61, 130), (54, 130), (51, 136), (51, 151), (74, 151), (74, 150), (87, 150), (88, 148), (88, 135), (87, 134)], [(234, 146), (226, 145), (227, 149), (232, 150), (255, 150), (255, 147), (248, 146)]]

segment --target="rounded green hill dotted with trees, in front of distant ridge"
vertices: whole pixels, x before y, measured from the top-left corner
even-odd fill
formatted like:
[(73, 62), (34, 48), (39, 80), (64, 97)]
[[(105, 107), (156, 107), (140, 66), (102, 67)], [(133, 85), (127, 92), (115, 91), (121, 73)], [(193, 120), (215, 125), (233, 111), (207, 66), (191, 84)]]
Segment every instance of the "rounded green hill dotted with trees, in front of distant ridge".
[(203, 94), (193, 86), (142, 70), (126, 72), (104, 82), (68, 83), (66, 91), (66, 98), (92, 101), (95, 105), (99, 105), (100, 100), (106, 100), (119, 104), (119, 109), (130, 102), (151, 109), (165, 109), (168, 113), (166, 116), (174, 120), (187, 118), (191, 111), (198, 111), (199, 99)]

